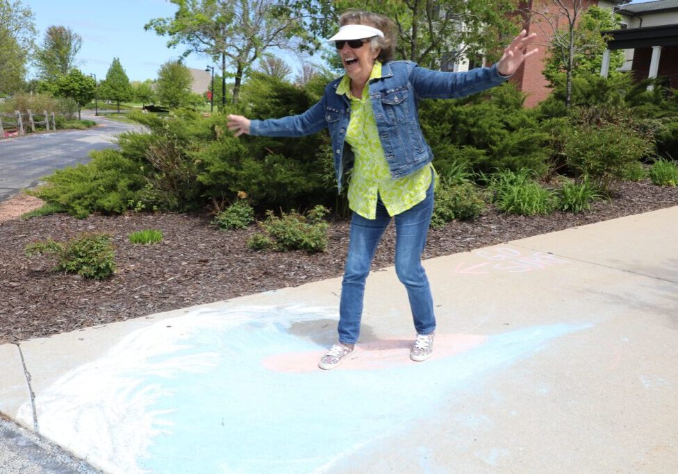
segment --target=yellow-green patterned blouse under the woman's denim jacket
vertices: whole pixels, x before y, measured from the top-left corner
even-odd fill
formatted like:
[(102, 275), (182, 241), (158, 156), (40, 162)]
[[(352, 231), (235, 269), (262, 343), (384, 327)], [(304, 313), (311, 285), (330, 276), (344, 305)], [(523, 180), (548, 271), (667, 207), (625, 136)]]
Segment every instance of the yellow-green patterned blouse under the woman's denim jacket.
[(370, 80), (365, 84), (362, 99), (351, 94), (349, 76), (344, 76), (337, 87), (337, 94), (346, 94), (351, 99), (351, 120), (346, 131), (346, 142), (353, 149), (355, 163), (349, 181), (349, 208), (365, 219), (376, 218), (377, 196), (381, 197), (390, 216), (424, 201), (431, 185), (433, 169), (433, 165), (429, 165), (403, 178), (391, 178), (379, 141), (369, 92), (370, 81), (380, 77), (381, 62), (377, 61), (374, 62)]

